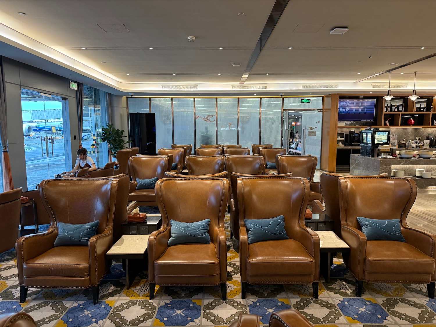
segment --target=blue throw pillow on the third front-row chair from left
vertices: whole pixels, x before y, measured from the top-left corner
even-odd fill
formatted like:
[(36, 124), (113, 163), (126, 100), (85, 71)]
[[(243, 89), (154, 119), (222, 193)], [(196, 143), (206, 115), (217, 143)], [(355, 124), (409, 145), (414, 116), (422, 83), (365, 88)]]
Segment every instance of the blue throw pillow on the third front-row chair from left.
[(283, 215), (269, 219), (244, 219), (244, 223), (248, 230), (248, 244), (289, 238), (286, 235)]

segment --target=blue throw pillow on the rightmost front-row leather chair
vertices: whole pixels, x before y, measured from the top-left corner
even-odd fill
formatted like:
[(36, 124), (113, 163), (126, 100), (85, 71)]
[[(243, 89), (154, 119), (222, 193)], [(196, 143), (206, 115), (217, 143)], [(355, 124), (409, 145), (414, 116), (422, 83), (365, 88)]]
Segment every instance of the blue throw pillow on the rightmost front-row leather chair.
[(405, 242), (401, 234), (399, 219), (370, 219), (364, 217), (357, 218), (362, 233), (368, 241), (387, 240)]

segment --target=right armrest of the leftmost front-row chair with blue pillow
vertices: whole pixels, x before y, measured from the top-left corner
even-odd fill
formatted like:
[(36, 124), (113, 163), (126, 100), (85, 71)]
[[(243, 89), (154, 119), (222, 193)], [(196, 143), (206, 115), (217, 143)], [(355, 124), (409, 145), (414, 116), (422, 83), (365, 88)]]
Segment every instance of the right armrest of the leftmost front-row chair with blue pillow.
[[(109, 262), (106, 252), (112, 247), (112, 226), (106, 228), (102, 234), (89, 239), (89, 279), (92, 285), (97, 285), (106, 275)], [(95, 271), (91, 271), (91, 269)]]

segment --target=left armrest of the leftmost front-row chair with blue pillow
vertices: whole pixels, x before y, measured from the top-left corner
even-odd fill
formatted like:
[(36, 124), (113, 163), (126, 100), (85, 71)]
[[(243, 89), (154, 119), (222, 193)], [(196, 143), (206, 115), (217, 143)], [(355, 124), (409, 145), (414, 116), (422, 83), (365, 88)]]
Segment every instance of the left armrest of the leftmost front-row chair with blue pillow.
[(51, 227), (45, 233), (27, 235), (17, 239), (15, 250), (17, 252), (17, 269), (20, 284), (24, 283), (24, 262), (53, 248), (56, 237), (58, 237), (58, 232), (55, 228)]

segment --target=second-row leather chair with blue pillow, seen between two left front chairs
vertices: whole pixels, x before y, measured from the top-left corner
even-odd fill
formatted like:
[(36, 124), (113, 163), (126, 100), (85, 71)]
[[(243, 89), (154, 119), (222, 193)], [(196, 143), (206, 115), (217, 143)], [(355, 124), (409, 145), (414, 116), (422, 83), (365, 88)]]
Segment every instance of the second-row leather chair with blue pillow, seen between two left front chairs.
[(140, 205), (156, 206), (156, 195), (154, 190), (136, 190), (136, 178), (150, 179), (157, 177), (164, 178), (168, 168), (167, 156), (141, 156), (130, 157), (129, 167), (132, 171), (132, 182), (130, 183), (129, 201), (138, 201)]

